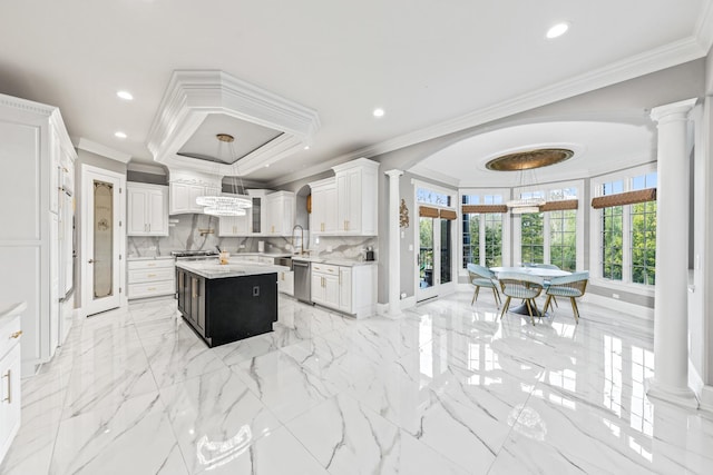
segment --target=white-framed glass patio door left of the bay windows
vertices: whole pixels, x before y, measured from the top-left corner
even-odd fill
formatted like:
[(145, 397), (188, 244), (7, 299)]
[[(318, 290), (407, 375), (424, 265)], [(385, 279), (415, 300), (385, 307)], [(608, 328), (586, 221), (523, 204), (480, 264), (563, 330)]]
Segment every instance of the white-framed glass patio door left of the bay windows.
[(455, 291), (452, 220), (419, 217), (417, 301)]

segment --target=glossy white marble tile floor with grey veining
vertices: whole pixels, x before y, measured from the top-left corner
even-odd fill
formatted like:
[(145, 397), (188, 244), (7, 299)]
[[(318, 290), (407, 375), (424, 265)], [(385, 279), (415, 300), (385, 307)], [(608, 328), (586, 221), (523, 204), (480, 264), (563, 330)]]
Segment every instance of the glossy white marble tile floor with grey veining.
[(713, 473), (713, 422), (644, 394), (649, 324), (488, 297), (359, 321), (281, 298), (274, 333), (213, 349), (173, 299), (90, 317), (23, 383), (0, 473)]

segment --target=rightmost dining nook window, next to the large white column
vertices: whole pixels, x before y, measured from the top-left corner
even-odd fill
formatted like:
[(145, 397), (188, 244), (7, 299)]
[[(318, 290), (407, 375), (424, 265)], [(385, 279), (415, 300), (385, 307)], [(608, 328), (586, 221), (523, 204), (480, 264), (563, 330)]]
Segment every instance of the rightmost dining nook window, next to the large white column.
[[(605, 181), (598, 196), (656, 187), (656, 172), (631, 170), (628, 177)], [(624, 204), (599, 210), (600, 277), (653, 286), (656, 281), (656, 201)]]

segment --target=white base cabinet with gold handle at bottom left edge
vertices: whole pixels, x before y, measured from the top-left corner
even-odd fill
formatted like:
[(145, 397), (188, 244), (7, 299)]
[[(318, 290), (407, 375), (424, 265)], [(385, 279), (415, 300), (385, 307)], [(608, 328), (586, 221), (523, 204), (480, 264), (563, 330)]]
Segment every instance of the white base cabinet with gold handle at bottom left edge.
[[(14, 310), (22, 308), (23, 305)], [(0, 316), (0, 465), (20, 428), (21, 334), (19, 313)]]

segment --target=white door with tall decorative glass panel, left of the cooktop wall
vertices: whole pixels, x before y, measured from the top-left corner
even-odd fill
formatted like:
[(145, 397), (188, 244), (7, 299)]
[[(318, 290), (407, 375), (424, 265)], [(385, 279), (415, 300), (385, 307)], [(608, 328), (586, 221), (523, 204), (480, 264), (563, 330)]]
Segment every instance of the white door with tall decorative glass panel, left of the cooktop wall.
[(96, 167), (82, 174), (82, 308), (119, 307), (124, 176)]

